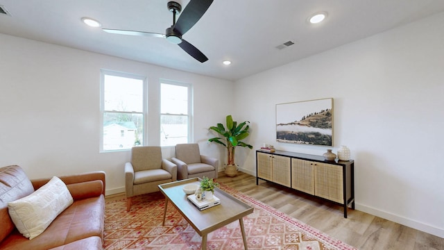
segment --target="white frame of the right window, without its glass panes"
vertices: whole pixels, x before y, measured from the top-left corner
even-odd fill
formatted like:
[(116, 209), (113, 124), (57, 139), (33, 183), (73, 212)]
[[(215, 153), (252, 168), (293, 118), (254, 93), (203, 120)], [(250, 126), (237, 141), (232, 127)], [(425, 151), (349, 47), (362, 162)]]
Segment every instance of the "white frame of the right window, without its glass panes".
[(163, 146), (162, 145), (162, 115), (183, 115), (183, 114), (169, 114), (169, 113), (162, 113), (162, 83), (163, 84), (169, 84), (169, 85), (177, 85), (187, 88), (187, 118), (188, 118), (188, 131), (187, 131), (187, 143), (194, 142), (194, 121), (193, 121), (193, 110), (194, 110), (194, 99), (193, 99), (193, 85), (191, 83), (184, 83), (180, 81), (172, 81), (165, 78), (160, 78), (159, 81), (159, 144), (161, 147), (175, 147), (174, 145), (171, 146)]

